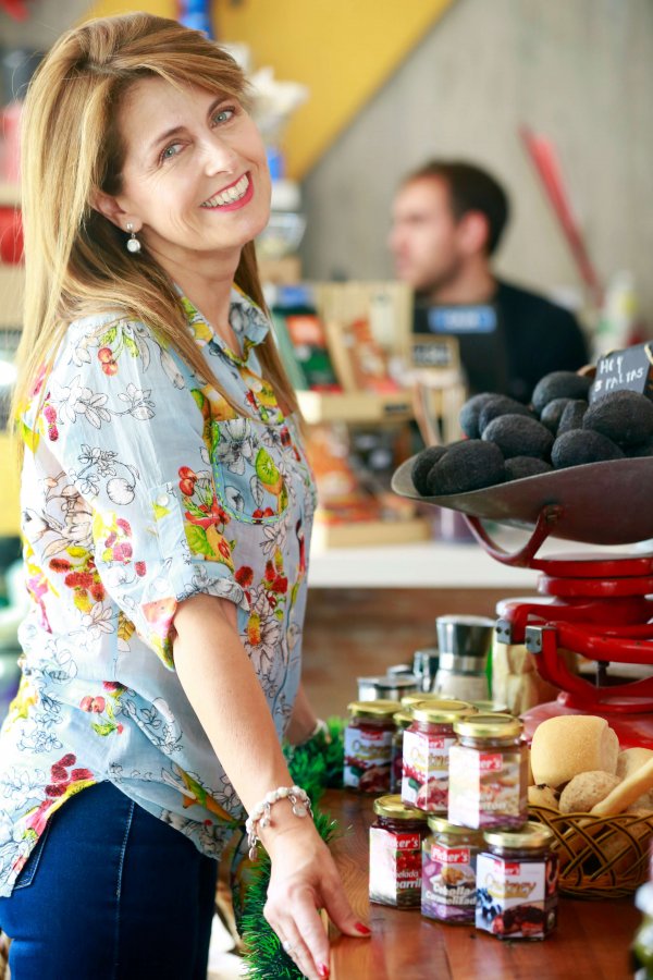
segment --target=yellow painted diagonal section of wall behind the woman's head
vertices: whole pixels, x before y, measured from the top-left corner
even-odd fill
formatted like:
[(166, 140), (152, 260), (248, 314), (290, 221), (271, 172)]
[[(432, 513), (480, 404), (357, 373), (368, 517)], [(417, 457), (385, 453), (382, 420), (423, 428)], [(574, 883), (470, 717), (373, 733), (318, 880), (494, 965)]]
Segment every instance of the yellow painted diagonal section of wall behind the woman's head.
[[(303, 82), (310, 99), (285, 136), (288, 175), (317, 163), (453, 0), (213, 0), (221, 40), (245, 41), (255, 68)], [(89, 16), (127, 10), (175, 16), (175, 0), (96, 0)]]

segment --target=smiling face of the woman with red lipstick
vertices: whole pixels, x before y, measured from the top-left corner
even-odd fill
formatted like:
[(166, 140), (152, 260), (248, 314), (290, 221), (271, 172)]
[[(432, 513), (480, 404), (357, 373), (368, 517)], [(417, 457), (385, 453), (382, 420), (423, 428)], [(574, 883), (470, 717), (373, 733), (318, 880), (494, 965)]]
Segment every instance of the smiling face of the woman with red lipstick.
[(121, 228), (131, 221), (164, 265), (209, 254), (237, 260), (270, 215), (263, 143), (239, 102), (144, 78), (123, 101), (120, 128)]

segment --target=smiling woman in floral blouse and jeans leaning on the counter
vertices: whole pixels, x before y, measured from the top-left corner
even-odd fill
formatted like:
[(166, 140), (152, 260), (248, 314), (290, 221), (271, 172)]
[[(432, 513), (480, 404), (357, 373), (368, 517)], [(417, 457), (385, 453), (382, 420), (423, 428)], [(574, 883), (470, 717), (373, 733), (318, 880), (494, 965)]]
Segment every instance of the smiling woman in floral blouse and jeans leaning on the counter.
[(247, 812), (272, 859), (266, 915), (328, 977), (317, 910), (366, 929), (280, 747), (316, 730), (315, 491), (256, 271), (270, 177), (245, 81), (175, 22), (90, 22), (37, 71), (23, 145), (12, 978), (204, 980), (217, 860)]

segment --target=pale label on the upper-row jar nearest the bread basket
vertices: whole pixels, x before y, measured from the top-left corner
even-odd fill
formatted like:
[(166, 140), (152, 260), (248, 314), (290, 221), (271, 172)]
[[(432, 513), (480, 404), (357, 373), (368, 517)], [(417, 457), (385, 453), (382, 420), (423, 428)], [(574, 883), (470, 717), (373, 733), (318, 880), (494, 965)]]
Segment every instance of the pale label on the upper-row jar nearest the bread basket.
[(528, 814), (527, 782), (521, 748), (483, 752), (456, 745), (449, 756), (448, 819), (461, 826), (520, 826)]

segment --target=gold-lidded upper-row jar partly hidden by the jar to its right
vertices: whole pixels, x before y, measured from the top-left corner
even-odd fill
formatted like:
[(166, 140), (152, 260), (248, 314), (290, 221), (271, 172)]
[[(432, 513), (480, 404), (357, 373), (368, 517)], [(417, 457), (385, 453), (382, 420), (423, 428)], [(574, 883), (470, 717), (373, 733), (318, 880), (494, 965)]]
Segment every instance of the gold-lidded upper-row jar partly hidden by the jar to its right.
[(412, 724), (404, 732), (402, 799), (428, 813), (444, 813), (448, 804), (448, 755), (458, 740), (454, 722), (475, 713), (466, 701), (430, 700), (412, 706)]

